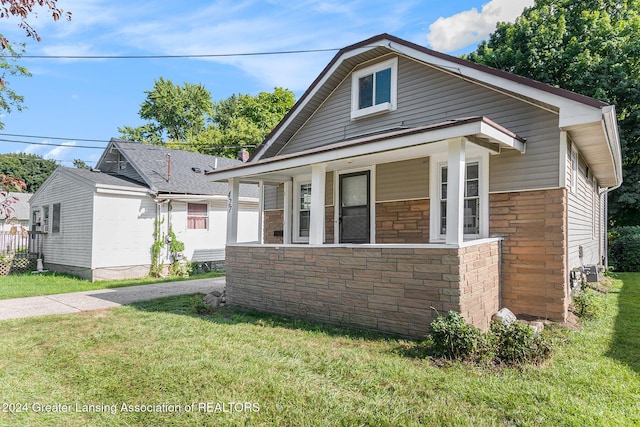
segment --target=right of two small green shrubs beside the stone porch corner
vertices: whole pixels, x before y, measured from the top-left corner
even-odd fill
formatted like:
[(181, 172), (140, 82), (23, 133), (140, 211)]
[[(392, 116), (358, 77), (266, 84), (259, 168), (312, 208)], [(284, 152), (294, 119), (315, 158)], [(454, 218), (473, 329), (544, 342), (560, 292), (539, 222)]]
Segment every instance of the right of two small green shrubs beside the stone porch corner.
[(540, 363), (551, 355), (551, 343), (522, 322), (492, 322), (489, 331), (496, 362), (509, 365)]

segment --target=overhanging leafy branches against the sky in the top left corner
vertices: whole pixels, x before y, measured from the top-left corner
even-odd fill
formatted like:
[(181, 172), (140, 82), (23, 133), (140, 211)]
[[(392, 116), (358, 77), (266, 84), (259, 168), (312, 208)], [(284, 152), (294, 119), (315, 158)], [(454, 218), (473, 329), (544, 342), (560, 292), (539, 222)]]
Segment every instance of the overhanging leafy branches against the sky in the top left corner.
[[(71, 12), (64, 12), (57, 5), (57, 0), (0, 0), (0, 18), (18, 17), (18, 26), (25, 30), (27, 37), (40, 41), (38, 32), (31, 26), (28, 18), (37, 15), (36, 9), (45, 9), (54, 21), (62, 17), (71, 19)], [(11, 113), (13, 108), (23, 110), (24, 97), (11, 89), (9, 80), (13, 77), (30, 77), (29, 71), (18, 65), (18, 59), (24, 52), (24, 44), (17, 44), (14, 48), (11, 42), (0, 34), (0, 111)], [(0, 121), (0, 129), (4, 123)]]

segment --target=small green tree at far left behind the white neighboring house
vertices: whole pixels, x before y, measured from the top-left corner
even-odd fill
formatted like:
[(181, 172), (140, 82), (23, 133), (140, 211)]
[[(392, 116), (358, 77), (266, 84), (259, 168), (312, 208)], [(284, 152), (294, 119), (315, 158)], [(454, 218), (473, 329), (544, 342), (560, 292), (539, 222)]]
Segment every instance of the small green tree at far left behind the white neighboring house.
[[(53, 160), (34, 154), (0, 154), (0, 175), (18, 179), (26, 184), (29, 193), (35, 192), (58, 165)], [(15, 188), (12, 191), (20, 191)]]

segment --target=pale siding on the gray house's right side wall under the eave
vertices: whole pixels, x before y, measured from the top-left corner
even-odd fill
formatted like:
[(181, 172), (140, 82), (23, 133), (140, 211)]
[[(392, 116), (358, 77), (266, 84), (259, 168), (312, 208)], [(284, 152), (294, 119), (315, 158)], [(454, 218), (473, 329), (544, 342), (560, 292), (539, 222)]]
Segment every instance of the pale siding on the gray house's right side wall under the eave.
[[(597, 188), (593, 186), (591, 174), (587, 165), (578, 155), (578, 181), (577, 190), (573, 192), (571, 186), (568, 192), (568, 252), (569, 269), (588, 264), (601, 262), (601, 236), (602, 198), (597, 194)], [(570, 161), (568, 163), (570, 167)], [(583, 258), (580, 259), (580, 247)]]

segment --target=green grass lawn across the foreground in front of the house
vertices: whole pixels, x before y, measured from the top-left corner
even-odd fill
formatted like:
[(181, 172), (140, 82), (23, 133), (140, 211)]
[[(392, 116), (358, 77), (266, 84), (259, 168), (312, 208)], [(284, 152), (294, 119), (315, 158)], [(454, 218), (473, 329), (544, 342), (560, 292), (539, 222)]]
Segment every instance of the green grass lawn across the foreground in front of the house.
[[(0, 425), (639, 425), (639, 304), (640, 274), (620, 275), (600, 318), (554, 330), (545, 366), (501, 370), (438, 367), (415, 357), (416, 342), (277, 316), (199, 315), (201, 295), (9, 320), (0, 322), (0, 400), (25, 410), (0, 407)], [(252, 411), (228, 412), (237, 409), (229, 402)]]

